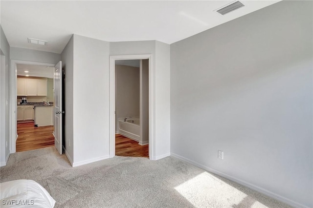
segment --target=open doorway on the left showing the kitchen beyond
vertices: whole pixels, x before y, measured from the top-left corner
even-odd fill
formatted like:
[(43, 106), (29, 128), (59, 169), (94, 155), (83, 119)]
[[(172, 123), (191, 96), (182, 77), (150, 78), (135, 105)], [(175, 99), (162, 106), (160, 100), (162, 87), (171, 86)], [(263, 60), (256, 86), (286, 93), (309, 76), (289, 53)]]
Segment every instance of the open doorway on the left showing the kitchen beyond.
[(54, 67), (17, 65), (16, 151), (54, 146)]

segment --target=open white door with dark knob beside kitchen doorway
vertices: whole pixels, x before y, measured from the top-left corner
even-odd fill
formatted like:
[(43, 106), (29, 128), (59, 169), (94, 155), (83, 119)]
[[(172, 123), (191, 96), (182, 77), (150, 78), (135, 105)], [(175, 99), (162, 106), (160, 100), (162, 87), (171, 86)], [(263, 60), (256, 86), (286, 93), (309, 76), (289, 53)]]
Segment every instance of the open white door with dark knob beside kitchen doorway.
[(54, 146), (62, 154), (62, 62), (54, 66)]

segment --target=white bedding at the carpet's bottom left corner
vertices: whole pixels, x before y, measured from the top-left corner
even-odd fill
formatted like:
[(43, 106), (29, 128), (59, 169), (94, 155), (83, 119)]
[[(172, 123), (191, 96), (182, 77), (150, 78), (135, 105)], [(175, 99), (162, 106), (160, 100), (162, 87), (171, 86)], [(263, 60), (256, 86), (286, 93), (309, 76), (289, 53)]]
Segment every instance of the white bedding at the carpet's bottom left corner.
[(1, 208), (53, 208), (55, 200), (35, 181), (15, 180), (0, 184)]

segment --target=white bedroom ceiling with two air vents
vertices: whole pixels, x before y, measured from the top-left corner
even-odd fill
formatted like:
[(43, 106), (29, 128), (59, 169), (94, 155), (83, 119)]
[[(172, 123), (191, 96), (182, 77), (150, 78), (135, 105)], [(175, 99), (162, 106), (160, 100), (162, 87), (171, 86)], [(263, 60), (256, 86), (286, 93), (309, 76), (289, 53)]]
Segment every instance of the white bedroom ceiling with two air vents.
[[(72, 34), (108, 42), (178, 42), (279, 0), (243, 0), (234, 12), (215, 10), (232, 0), (76, 1), (1, 0), (1, 26), (12, 47), (61, 53)], [(47, 46), (27, 38), (48, 41)]]

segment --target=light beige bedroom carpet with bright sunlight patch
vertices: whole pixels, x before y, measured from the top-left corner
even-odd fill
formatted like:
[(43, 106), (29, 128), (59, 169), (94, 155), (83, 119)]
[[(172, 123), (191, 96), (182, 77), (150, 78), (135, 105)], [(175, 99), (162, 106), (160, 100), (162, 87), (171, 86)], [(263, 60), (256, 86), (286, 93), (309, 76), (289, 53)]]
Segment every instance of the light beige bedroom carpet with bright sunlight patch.
[(56, 208), (289, 207), (174, 157), (115, 156), (71, 167), (65, 155), (46, 147), (12, 154), (0, 174), (0, 182), (38, 182), (56, 200)]

